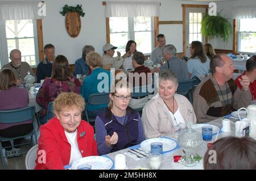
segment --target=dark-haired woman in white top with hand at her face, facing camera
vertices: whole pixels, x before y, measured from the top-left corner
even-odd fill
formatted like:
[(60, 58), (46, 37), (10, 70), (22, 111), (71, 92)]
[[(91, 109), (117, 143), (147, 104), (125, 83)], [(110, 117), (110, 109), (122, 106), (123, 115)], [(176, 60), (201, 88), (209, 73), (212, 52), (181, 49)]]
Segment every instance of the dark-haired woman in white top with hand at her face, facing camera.
[(134, 67), (133, 67), (133, 64), (132, 64), (132, 61), (131, 61), (131, 57), (133, 56), (133, 54), (135, 52), (137, 52), (136, 46), (137, 46), (137, 44), (133, 40), (129, 40), (127, 42), (125, 52), (130, 53), (130, 56), (125, 58), (125, 60), (123, 61), (123, 69), (125, 69), (125, 70), (129, 70), (129, 69), (134, 70)]

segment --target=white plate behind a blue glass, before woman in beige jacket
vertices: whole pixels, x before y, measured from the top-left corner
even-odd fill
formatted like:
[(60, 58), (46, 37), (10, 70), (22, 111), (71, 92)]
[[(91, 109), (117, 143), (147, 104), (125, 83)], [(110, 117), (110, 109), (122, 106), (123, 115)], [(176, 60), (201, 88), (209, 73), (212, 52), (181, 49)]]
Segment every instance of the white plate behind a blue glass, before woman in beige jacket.
[(141, 148), (144, 150), (150, 151), (152, 142), (162, 142), (163, 151), (173, 150), (177, 146), (175, 141), (170, 140), (168, 138), (151, 138), (151, 139), (147, 139), (147, 140), (143, 141), (141, 143)]

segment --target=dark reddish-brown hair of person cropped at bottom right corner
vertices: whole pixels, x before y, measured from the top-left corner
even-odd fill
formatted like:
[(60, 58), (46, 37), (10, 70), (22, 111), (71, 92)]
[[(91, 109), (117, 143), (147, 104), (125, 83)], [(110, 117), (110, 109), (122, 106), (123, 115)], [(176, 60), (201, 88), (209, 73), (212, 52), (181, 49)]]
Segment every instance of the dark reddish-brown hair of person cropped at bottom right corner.
[(255, 170), (256, 141), (253, 138), (224, 137), (204, 155), (205, 170)]

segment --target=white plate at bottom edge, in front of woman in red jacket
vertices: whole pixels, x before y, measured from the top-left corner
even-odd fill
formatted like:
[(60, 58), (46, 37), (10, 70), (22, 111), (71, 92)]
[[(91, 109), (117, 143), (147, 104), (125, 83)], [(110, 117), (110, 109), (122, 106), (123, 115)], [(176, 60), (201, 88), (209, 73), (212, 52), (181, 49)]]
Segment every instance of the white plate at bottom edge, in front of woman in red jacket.
[(113, 166), (111, 159), (101, 156), (91, 156), (77, 159), (72, 164), (72, 170), (77, 170), (80, 165), (88, 164), (92, 170), (109, 170)]

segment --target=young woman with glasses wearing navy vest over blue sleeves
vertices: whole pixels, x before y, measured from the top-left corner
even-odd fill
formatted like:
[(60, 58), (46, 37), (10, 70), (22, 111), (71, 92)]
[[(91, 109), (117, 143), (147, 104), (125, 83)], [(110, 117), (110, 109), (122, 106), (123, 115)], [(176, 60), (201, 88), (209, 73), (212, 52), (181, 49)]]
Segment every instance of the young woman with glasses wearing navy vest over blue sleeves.
[(115, 83), (115, 92), (109, 94), (108, 108), (95, 121), (98, 154), (122, 150), (145, 140), (141, 117), (128, 107), (131, 87), (126, 81)]

